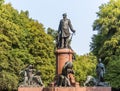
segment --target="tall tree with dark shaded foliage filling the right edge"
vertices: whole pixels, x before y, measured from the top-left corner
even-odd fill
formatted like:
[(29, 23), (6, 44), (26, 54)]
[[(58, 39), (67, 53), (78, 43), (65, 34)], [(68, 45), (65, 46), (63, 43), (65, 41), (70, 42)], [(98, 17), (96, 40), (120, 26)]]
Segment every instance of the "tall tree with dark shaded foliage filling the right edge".
[(109, 70), (106, 79), (113, 87), (120, 87), (116, 79), (120, 66), (120, 0), (110, 0), (99, 9), (98, 19), (93, 24), (98, 33), (92, 37), (91, 50), (106, 64)]

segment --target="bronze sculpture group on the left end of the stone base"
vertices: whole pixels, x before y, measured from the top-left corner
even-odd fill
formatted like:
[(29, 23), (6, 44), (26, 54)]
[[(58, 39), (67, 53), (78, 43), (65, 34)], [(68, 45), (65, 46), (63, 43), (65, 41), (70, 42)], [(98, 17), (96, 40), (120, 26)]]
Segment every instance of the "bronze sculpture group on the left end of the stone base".
[(40, 71), (37, 71), (35, 74), (34, 73), (35, 69), (33, 65), (28, 65), (24, 70), (20, 71), (22, 81), (19, 86), (43, 86)]

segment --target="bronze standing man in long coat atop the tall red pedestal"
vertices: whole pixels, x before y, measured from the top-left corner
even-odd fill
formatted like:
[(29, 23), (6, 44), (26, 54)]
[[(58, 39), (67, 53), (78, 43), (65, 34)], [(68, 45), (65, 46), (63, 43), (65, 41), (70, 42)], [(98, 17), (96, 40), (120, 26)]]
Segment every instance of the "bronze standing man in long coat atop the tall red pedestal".
[(67, 14), (63, 14), (63, 19), (60, 20), (59, 28), (58, 28), (58, 36), (59, 36), (59, 43), (58, 48), (67, 48), (68, 41), (70, 37), (70, 30), (75, 33), (75, 30), (72, 27), (70, 19), (67, 19)]

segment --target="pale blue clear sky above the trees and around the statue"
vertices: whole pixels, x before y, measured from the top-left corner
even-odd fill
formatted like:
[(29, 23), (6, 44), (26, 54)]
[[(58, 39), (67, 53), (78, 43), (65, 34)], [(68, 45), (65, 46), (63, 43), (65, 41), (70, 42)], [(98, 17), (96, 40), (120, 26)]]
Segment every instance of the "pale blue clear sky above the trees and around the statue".
[(29, 11), (29, 17), (38, 20), (47, 29), (57, 30), (62, 14), (67, 13), (71, 20), (75, 35), (71, 47), (78, 55), (90, 52), (93, 34), (92, 25), (98, 18), (96, 12), (101, 4), (109, 0), (5, 0), (18, 11)]

